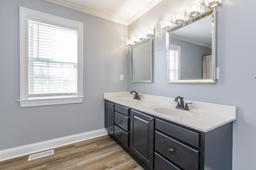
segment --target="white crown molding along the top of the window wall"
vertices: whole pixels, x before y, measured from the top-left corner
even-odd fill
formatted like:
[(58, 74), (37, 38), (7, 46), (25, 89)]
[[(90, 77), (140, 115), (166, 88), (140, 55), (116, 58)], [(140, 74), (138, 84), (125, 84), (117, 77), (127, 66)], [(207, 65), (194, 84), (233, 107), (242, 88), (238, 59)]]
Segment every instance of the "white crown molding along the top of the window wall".
[(64, 7), (67, 7), (67, 8), (73, 9), (73, 10), (77, 10), (77, 11), (80, 11), (80, 12), (84, 12), (86, 14), (97, 16), (97, 17), (100, 17), (100, 18), (104, 18), (106, 20), (114, 21), (116, 23), (121, 23), (123, 25), (128, 25), (127, 21), (120, 20), (120, 19), (117, 19), (117, 18), (113, 18), (113, 17), (108, 16), (108, 15), (102, 13), (102, 12), (98, 12), (98, 11), (92, 10), (90, 8), (86, 8), (84, 6), (73, 4), (73, 3), (67, 2), (65, 0), (44, 0), (44, 1), (51, 2), (53, 4), (64, 6)]

